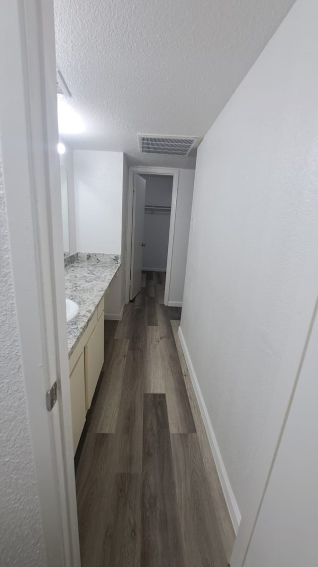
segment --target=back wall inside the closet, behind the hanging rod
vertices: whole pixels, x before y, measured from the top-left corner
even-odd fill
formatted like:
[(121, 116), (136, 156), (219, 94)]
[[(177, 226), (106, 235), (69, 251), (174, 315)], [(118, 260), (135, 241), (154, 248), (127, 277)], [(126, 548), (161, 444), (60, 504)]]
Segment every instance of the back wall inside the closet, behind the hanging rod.
[[(141, 175), (146, 181), (145, 204), (171, 207), (173, 177)], [(145, 212), (143, 269), (162, 270), (167, 267), (170, 212)]]

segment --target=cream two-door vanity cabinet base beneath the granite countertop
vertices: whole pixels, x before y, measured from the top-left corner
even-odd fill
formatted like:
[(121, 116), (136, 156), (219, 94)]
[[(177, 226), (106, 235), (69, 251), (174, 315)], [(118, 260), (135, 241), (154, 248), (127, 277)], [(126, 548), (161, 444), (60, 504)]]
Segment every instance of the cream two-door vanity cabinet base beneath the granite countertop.
[(104, 364), (104, 297), (69, 360), (74, 454)]

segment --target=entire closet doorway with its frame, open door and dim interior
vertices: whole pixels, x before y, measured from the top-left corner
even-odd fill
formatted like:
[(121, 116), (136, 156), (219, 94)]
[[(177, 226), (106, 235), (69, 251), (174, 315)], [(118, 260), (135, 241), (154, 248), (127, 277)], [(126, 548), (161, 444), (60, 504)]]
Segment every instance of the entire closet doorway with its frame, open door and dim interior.
[(160, 302), (169, 302), (178, 178), (178, 170), (130, 168), (126, 302), (146, 277), (161, 284)]

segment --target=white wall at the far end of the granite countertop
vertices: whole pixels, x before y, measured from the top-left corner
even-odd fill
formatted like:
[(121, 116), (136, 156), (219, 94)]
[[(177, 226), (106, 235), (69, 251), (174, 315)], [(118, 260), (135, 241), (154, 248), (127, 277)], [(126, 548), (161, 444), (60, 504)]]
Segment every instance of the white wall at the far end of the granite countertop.
[(105, 295), (105, 319), (124, 307), (128, 166), (123, 153), (74, 151), (76, 251), (121, 254), (122, 265)]

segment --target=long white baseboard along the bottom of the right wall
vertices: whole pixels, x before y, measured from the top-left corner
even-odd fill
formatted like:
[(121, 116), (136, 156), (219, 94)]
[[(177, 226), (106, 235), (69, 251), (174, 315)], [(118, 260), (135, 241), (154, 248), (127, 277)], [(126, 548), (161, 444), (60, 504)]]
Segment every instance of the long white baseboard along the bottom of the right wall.
[(179, 338), (180, 338), (184, 358), (186, 359), (186, 363), (187, 363), (187, 366), (188, 366), (188, 371), (189, 371), (189, 374), (190, 374), (192, 385), (194, 387), (197, 403), (199, 404), (199, 408), (200, 408), (201, 416), (202, 416), (202, 419), (203, 419), (203, 422), (204, 422), (205, 430), (207, 431), (212, 455), (213, 455), (214, 462), (215, 462), (216, 468), (217, 468), (218, 477), (220, 479), (222, 490), (224, 492), (226, 505), (227, 505), (227, 508), (229, 510), (229, 514), (230, 514), (230, 517), (231, 517), (231, 521), (233, 523), (235, 534), (237, 534), (239, 524), (240, 524), (240, 519), (241, 519), (240, 511), (238, 509), (237, 501), (235, 500), (233, 490), (231, 489), (229, 477), (226, 474), (224, 462), (222, 461), (221, 452), (220, 452), (220, 449), (218, 448), (218, 445), (217, 445), (216, 436), (215, 436), (214, 431), (213, 431), (213, 427), (212, 427), (212, 423), (211, 423), (210, 418), (209, 418), (207, 407), (204, 403), (203, 395), (202, 395), (202, 392), (201, 392), (201, 389), (200, 389), (200, 386), (199, 386), (199, 382), (197, 381), (194, 366), (192, 365), (190, 353), (188, 351), (186, 341), (184, 340), (184, 336), (183, 336), (181, 327), (179, 327), (179, 329), (178, 329), (178, 335), (179, 335)]

